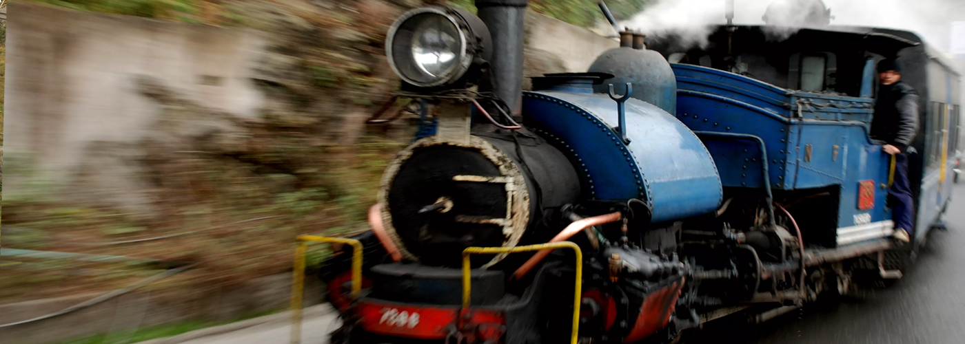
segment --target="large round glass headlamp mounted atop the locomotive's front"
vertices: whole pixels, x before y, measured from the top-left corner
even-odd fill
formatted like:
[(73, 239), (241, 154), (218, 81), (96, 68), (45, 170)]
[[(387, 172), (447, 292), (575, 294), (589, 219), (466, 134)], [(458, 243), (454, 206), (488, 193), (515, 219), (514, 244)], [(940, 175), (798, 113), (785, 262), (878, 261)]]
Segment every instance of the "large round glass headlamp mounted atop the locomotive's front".
[(402, 14), (385, 42), (389, 65), (402, 81), (420, 88), (455, 83), (486, 60), (489, 32), (464, 10), (427, 7)]

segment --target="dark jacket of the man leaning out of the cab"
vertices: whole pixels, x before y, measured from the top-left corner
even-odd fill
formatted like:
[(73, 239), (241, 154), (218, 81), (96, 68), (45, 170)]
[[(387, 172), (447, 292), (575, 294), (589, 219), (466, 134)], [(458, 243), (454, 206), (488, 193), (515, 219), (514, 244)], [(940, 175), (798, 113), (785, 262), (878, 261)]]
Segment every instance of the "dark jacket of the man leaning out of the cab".
[(918, 93), (902, 81), (881, 85), (874, 102), (871, 138), (904, 152), (918, 133)]

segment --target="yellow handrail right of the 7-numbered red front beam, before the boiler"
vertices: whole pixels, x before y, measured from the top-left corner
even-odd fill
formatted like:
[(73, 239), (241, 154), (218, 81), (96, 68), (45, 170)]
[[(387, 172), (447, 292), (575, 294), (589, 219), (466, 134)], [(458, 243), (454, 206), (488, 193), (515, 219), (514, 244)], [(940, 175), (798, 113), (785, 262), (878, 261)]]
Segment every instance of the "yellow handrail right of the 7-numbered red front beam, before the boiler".
[(498, 254), (515, 253), (523, 251), (542, 251), (556, 249), (571, 249), (576, 253), (576, 283), (573, 291), (573, 333), (570, 338), (571, 344), (577, 344), (580, 332), (580, 299), (583, 289), (583, 251), (580, 247), (568, 241), (557, 243), (519, 246), (515, 248), (466, 248), (462, 251), (462, 309), (469, 309), (472, 300), (472, 268), (469, 264), (470, 254)]

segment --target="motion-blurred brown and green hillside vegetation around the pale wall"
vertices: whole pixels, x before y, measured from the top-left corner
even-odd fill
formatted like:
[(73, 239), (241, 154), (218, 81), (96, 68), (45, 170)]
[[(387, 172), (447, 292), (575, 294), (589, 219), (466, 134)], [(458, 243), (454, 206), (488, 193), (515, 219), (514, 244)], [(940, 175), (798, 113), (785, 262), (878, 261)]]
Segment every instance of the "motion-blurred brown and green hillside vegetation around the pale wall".
[[(261, 124), (243, 128), (247, 141), (239, 146), (244, 149), (167, 149), (164, 145), (170, 143), (164, 141), (138, 147), (145, 158), (130, 163), (143, 166), (140, 177), (153, 185), (152, 214), (59, 198), (58, 189), (31, 184), (24, 193), (28, 197), (4, 199), (4, 248), (195, 263), (196, 269), (152, 285), (189, 291), (231, 287), (289, 271), (298, 234), (366, 227), (366, 210), (374, 203), (381, 173), (402, 145), (384, 136), (366, 136), (366, 128), (345, 124), (358, 120), (345, 114), (371, 113), (371, 104), (396, 84), (379, 45), (385, 26), (397, 15), (396, 5), (370, 1), (363, 2), (370, 8), (320, 11), (300, 0), (32, 1), (214, 25), (240, 23), (272, 35), (270, 41), (278, 46), (268, 50), (298, 63), (270, 72), (279, 82), (265, 93), (284, 107), (264, 110)], [(359, 25), (362, 22), (366, 25)], [(348, 31), (353, 27), (363, 31)], [(176, 110), (187, 118), (209, 115), (184, 106)], [(98, 245), (179, 233), (187, 234)], [(310, 252), (310, 262), (324, 254), (318, 246)], [(117, 268), (75, 261), (0, 266), (0, 304), (106, 291), (142, 278), (130, 267)]]

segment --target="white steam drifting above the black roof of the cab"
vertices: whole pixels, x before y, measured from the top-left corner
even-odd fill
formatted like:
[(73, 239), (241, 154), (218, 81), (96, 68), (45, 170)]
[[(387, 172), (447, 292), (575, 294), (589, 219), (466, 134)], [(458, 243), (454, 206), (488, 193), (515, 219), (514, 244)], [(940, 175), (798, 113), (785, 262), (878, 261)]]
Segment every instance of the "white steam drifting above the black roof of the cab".
[[(810, 3), (806, 0), (776, 0), (779, 3)], [(734, 24), (762, 25), (762, 17), (775, 0), (734, 0)], [(913, 31), (928, 44), (948, 51), (951, 21), (965, 20), (963, 0), (824, 0), (831, 9), (831, 25), (872, 26)], [(709, 25), (725, 24), (726, 0), (657, 0), (621, 26), (649, 35), (674, 31), (679, 43), (703, 45)], [(779, 6), (780, 8), (780, 6)], [(789, 11), (772, 16), (775, 39), (782, 39), (800, 27), (815, 26), (804, 20), (807, 11)]]

